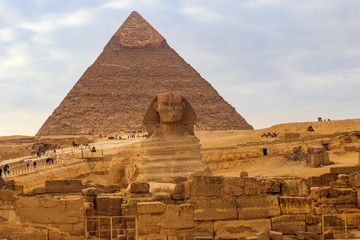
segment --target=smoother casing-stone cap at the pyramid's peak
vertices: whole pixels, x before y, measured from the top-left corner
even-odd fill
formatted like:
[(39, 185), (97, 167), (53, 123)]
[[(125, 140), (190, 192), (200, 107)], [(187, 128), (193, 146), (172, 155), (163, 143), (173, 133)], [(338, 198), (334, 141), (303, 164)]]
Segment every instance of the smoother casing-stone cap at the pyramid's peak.
[(136, 11), (130, 13), (114, 36), (119, 37), (119, 43), (124, 47), (157, 46), (163, 41), (166, 41), (165, 38)]

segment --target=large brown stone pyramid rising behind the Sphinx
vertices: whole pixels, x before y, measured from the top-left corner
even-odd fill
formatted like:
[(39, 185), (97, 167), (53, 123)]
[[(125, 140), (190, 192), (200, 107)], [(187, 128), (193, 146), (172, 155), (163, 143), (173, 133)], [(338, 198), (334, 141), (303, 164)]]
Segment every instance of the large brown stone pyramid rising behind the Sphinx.
[(186, 97), (197, 130), (253, 129), (142, 16), (132, 12), (36, 135), (133, 131), (156, 94)]

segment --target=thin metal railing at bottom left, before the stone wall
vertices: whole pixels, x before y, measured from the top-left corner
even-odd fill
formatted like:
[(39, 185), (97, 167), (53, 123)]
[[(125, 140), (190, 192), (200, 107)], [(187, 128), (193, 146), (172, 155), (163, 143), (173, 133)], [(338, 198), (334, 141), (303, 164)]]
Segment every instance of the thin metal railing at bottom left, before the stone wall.
[(85, 239), (89, 235), (100, 239), (138, 239), (136, 216), (87, 216), (85, 217)]

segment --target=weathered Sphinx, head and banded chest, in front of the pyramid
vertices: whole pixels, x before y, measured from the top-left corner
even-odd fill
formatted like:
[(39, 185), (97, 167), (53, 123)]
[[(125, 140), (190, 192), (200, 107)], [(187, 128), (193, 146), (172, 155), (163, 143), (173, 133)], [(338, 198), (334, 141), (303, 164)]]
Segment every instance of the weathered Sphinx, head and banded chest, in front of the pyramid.
[(174, 183), (178, 177), (211, 174), (194, 136), (195, 121), (185, 98), (172, 93), (154, 98), (144, 117), (148, 138), (136, 162), (136, 181)]

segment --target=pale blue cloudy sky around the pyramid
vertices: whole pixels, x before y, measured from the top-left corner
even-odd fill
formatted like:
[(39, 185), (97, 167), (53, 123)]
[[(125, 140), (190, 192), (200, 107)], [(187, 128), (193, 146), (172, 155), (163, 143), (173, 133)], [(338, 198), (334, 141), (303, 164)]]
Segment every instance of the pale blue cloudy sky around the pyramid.
[(0, 136), (35, 135), (132, 11), (255, 129), (360, 117), (358, 0), (0, 0)]

